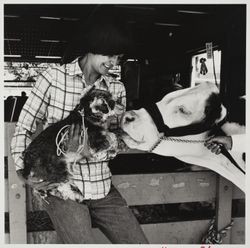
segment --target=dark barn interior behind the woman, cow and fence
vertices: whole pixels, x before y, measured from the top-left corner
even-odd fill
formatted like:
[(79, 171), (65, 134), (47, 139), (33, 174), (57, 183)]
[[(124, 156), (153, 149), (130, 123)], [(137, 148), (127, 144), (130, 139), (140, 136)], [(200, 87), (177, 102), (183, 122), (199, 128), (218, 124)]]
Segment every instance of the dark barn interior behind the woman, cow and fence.
[[(81, 47), (73, 45), (74, 38), (98, 11), (118, 13), (132, 32), (134, 50), (112, 72), (125, 84), (128, 109), (160, 100), (176, 84), (189, 87), (208, 80), (218, 84), (231, 118), (245, 122), (245, 105), (238, 100), (246, 94), (244, 4), (4, 4), (4, 70), (14, 74), (4, 78), (5, 122), (16, 122), (25, 102), (20, 101), (13, 109), (7, 98), (20, 98), (22, 91), (28, 95), (36, 81), (35, 76), (22, 78), (23, 68), (28, 65), (39, 71), (40, 64), (45, 68), (46, 64), (81, 56)], [(202, 73), (203, 57), (208, 68), (206, 75)], [(147, 175), (189, 172), (191, 165), (172, 157), (135, 151), (117, 156), (110, 168), (113, 175)], [(244, 217), (244, 204), (243, 199), (234, 199), (232, 216)], [(207, 199), (203, 203), (133, 208), (142, 224), (178, 222), (183, 218), (207, 220), (216, 212), (214, 203)], [(166, 213), (172, 218), (167, 218)], [(42, 216), (44, 222), (35, 225), (35, 212), (29, 215), (29, 233), (53, 230), (48, 216)], [(9, 233), (8, 213), (5, 217), (5, 232)], [(234, 236), (234, 242), (244, 242), (243, 236)], [(31, 240), (35, 242), (34, 237)]]

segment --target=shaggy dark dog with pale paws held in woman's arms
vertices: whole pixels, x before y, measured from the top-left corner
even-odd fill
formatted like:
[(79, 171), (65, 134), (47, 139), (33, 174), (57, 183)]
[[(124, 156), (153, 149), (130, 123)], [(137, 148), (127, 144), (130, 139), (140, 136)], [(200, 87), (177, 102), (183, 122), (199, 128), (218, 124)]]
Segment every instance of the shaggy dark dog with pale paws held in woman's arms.
[[(99, 158), (107, 152), (112, 157), (116, 153), (116, 135), (108, 130), (107, 122), (114, 115), (114, 106), (109, 92), (92, 87), (67, 118), (42, 131), (24, 151), (24, 178), (35, 177), (40, 181), (59, 183), (56, 189), (49, 191), (50, 194), (59, 192), (64, 199), (83, 200), (80, 191), (70, 180), (70, 166), (82, 158)], [(65, 143), (67, 129), (72, 124), (84, 127), (79, 137), (82, 145), (77, 152), (68, 153)], [(40, 193), (46, 195), (48, 192)]]

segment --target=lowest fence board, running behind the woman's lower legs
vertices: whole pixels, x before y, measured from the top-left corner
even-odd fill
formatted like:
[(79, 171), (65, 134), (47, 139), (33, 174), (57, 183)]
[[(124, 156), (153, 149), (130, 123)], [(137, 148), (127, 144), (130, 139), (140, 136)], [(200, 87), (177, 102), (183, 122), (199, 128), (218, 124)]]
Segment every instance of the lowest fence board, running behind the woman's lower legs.
[[(142, 225), (151, 244), (200, 244), (202, 235), (209, 227), (209, 220), (172, 222)], [(245, 218), (236, 218), (232, 230), (234, 244), (245, 243)], [(110, 244), (97, 228), (93, 228), (95, 244)], [(28, 233), (29, 244), (58, 244), (55, 231)], [(162, 246), (163, 247), (163, 246)], [(177, 247), (177, 246), (176, 246)], [(206, 246), (208, 247), (208, 245)]]

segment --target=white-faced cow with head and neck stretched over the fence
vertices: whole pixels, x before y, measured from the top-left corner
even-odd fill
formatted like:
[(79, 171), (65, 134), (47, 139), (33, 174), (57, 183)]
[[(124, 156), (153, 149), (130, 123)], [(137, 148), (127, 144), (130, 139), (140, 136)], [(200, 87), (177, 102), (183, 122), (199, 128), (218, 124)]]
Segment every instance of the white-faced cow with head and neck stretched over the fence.
[[(125, 132), (123, 140), (130, 148), (174, 156), (209, 168), (244, 191), (242, 153), (230, 151), (235, 165), (223, 154), (216, 155), (204, 146), (204, 141), (212, 135), (211, 130), (218, 129), (225, 116), (218, 88), (207, 82), (171, 92), (156, 104), (127, 111), (121, 120)], [(232, 130), (226, 126), (222, 125), (221, 129), (232, 135)]]

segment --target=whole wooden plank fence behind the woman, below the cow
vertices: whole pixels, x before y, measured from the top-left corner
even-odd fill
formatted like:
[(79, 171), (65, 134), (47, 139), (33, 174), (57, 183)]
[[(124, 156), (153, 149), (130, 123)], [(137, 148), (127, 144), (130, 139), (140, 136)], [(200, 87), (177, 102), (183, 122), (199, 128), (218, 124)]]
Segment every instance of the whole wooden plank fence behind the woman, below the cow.
[[(16, 176), (9, 148), (14, 125), (5, 123), (5, 243), (60, 243), (40, 199)], [(213, 218), (219, 230), (234, 221), (223, 243), (245, 243), (245, 195), (241, 190), (212, 171), (169, 172), (171, 163), (177, 163), (173, 159), (145, 154), (143, 158), (150, 161), (143, 160), (143, 164), (129, 161), (133, 156), (123, 155), (111, 163), (113, 183), (150, 243), (200, 244)], [(93, 232), (96, 244), (110, 243), (94, 226)]]

